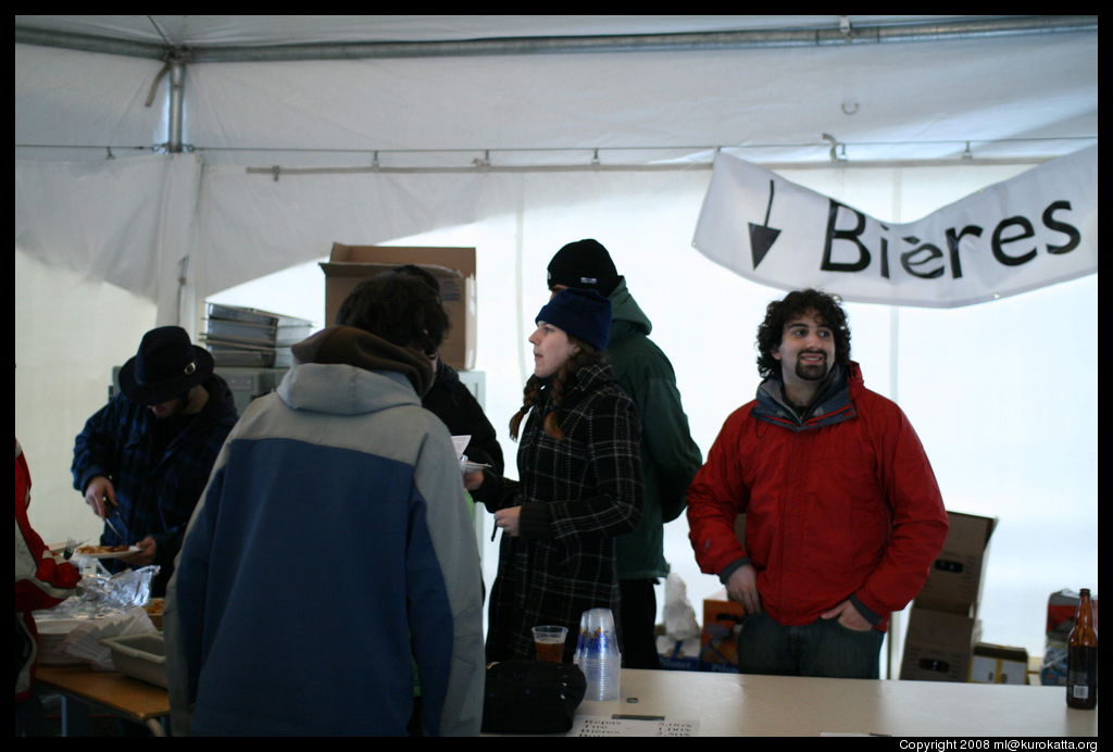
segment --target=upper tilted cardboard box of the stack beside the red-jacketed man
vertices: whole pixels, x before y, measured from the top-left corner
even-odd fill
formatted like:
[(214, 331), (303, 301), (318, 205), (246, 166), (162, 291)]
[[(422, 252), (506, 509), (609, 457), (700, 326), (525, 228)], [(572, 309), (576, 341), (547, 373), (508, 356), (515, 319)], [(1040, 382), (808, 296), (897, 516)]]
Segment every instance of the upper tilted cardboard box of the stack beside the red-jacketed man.
[(959, 512), (948, 512), (947, 518), (947, 540), (915, 605), (973, 619), (977, 616), (989, 536), (997, 520)]

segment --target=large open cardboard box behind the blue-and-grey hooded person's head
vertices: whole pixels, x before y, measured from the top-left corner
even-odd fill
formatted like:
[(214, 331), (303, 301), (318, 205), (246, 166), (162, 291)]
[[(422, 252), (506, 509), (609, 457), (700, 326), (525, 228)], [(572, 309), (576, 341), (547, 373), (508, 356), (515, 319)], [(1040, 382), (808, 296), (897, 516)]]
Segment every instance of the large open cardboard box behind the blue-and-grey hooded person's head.
[(475, 249), (333, 244), (325, 273), (325, 325), (356, 285), (392, 268), (414, 264), (436, 277), (441, 300), (452, 328), (441, 346), (441, 358), (453, 368), (475, 367)]

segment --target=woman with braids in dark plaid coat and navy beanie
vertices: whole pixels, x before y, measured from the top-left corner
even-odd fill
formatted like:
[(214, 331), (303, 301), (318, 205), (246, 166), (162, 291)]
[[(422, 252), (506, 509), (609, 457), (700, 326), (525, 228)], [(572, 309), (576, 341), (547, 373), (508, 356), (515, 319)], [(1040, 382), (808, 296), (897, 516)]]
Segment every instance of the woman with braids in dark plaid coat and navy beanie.
[(536, 323), (534, 375), (511, 419), (516, 438), (525, 418), (521, 479), (487, 472), (472, 489), (503, 531), (487, 661), (532, 659), (531, 629), (559, 624), (569, 630), (570, 662), (580, 615), (619, 613), (614, 536), (640, 517), (641, 427), (603, 355), (610, 303), (592, 290), (561, 290)]

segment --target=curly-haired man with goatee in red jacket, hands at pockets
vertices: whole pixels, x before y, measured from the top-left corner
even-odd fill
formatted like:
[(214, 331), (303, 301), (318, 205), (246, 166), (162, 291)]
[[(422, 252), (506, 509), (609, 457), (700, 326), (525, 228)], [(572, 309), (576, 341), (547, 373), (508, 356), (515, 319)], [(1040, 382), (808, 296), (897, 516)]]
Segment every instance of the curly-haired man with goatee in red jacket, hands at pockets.
[(758, 350), (757, 398), (688, 489), (696, 558), (746, 606), (740, 671), (876, 679), (889, 614), (947, 533), (935, 474), (900, 408), (864, 386), (836, 298), (769, 304)]

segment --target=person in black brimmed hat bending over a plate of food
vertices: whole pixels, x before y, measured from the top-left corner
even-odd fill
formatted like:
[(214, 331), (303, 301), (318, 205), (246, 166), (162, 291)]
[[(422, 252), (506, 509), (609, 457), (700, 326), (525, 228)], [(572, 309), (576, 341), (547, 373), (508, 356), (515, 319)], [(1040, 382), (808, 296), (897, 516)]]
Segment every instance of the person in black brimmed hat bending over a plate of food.
[(137, 550), (110, 568), (159, 565), (156, 596), (236, 423), (232, 392), (213, 370), (213, 356), (185, 329), (151, 329), (120, 368), (120, 394), (89, 418), (73, 447), (73, 486), (105, 520), (101, 545)]

